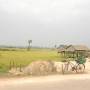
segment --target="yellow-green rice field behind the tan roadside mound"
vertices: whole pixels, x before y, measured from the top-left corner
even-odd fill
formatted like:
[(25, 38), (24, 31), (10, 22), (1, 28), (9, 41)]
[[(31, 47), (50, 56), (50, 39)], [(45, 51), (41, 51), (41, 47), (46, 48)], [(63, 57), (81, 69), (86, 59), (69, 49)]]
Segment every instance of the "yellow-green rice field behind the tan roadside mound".
[(57, 54), (56, 50), (52, 49), (0, 51), (0, 72), (7, 72), (11, 65), (14, 65), (15, 67), (20, 65), (27, 66), (36, 60), (60, 61), (61, 55)]

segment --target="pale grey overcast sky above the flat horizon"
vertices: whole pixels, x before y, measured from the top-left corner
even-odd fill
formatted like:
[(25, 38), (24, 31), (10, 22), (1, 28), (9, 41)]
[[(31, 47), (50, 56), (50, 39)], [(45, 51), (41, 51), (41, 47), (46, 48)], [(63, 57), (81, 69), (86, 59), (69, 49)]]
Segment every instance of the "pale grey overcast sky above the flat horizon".
[(0, 0), (0, 45), (90, 46), (90, 0)]

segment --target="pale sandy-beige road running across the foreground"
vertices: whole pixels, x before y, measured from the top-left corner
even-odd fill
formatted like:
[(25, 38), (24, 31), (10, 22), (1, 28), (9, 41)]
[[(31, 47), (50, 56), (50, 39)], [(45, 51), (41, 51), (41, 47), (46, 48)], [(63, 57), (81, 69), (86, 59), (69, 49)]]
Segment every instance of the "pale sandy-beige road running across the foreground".
[(0, 79), (0, 90), (90, 90), (90, 75)]

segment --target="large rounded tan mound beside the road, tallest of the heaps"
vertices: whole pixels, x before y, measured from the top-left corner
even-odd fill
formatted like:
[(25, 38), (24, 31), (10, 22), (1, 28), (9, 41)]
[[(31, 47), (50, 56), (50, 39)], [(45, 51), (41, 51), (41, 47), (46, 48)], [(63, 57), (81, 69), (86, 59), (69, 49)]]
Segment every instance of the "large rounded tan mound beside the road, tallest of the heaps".
[(47, 75), (54, 71), (52, 61), (35, 61), (24, 68), (24, 74), (29, 75)]

